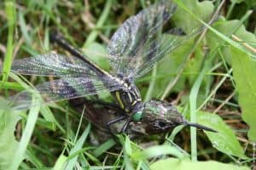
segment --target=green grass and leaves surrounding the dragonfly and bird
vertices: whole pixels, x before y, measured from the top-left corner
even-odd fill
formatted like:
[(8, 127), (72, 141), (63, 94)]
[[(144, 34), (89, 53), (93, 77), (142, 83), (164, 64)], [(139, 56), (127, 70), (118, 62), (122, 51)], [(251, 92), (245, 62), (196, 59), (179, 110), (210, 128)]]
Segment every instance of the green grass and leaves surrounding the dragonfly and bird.
[(220, 16), (200, 42), (195, 43), (198, 37), (185, 42), (137, 85), (144, 100), (172, 101), (188, 119), (218, 133), (177, 127), (165, 140), (153, 136), (142, 143), (121, 135), (120, 144), (108, 139), (96, 146), (90, 123), (67, 101), (12, 111), (8, 96), (50, 80), (18, 77), (9, 71), (13, 59), (54, 49), (67, 54), (49, 42), (49, 32), (60, 31), (109, 70), (102, 58), (109, 38), (150, 2), (5, 0), (0, 2), (0, 169), (255, 168), (256, 1), (174, 2), (179, 9), (173, 23), (184, 31), (210, 20), (215, 11)]

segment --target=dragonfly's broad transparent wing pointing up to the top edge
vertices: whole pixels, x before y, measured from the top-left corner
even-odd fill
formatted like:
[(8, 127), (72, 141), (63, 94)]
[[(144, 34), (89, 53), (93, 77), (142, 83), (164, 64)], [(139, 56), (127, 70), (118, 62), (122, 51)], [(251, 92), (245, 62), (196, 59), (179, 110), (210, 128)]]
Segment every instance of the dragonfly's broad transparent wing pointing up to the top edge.
[[(115, 74), (128, 77), (134, 68), (142, 65), (144, 52), (156, 46), (158, 34), (176, 9), (171, 1), (156, 3), (119, 27), (108, 44), (110, 63)], [(153, 56), (154, 51), (148, 53)]]

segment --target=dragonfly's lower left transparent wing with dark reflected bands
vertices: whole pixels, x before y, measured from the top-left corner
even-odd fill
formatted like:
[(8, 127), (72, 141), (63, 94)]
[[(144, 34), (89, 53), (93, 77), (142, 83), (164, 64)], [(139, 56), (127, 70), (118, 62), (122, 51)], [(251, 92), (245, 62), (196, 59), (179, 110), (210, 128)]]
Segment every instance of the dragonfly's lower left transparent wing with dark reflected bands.
[[(87, 95), (100, 94), (121, 88), (118, 82), (111, 81), (108, 77), (63, 77), (61, 79), (44, 82), (36, 86), (36, 90), (25, 90), (12, 96), (9, 101), (16, 110), (28, 109), (32, 104), (32, 96), (38, 94), (35, 105), (75, 99)], [(40, 95), (39, 95), (40, 94)]]

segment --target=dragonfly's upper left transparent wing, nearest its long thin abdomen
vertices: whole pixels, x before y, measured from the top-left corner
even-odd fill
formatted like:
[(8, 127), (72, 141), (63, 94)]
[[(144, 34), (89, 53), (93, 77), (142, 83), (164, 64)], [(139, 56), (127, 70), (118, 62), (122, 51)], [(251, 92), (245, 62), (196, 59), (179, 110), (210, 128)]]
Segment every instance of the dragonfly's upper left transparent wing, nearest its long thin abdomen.
[(26, 59), (16, 59), (11, 70), (23, 75), (54, 77), (96, 75), (83, 60), (61, 54), (40, 54)]

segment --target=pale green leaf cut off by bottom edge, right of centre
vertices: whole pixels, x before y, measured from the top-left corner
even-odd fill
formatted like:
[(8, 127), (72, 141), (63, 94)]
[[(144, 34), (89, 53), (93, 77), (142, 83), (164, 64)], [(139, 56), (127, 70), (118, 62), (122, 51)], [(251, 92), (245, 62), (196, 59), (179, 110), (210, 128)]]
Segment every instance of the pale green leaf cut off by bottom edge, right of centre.
[(166, 160), (156, 161), (151, 166), (152, 170), (249, 170), (249, 167), (240, 167), (233, 164), (221, 163), (218, 161), (189, 161), (169, 158)]

